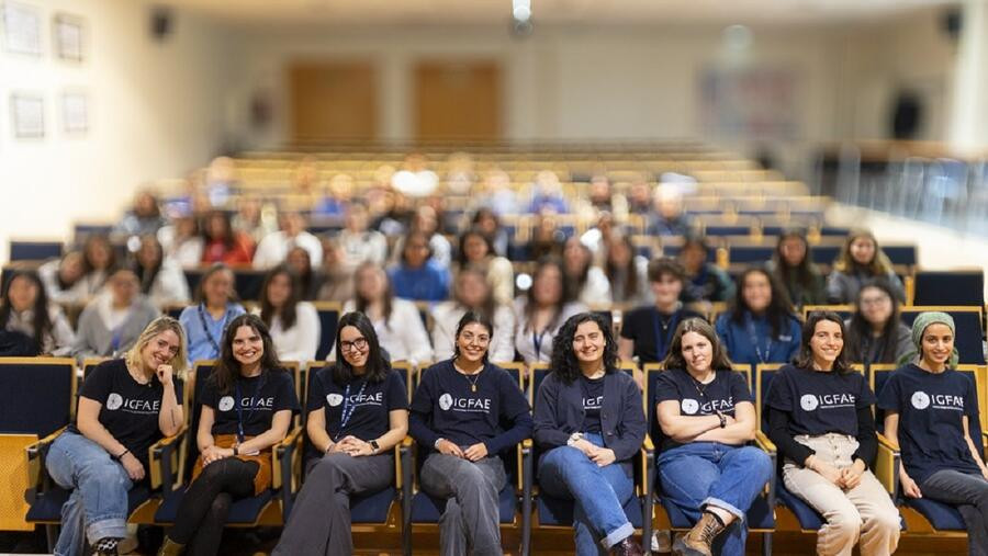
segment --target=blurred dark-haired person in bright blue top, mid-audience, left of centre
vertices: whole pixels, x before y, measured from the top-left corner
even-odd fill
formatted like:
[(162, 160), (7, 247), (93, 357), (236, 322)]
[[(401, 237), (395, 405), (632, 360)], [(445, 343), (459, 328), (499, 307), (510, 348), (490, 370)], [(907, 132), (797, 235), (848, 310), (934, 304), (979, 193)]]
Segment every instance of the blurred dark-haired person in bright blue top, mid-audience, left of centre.
[(429, 238), (412, 231), (403, 241), (401, 262), (391, 269), (394, 295), (415, 302), (441, 302), (449, 297), (449, 271), (433, 260)]

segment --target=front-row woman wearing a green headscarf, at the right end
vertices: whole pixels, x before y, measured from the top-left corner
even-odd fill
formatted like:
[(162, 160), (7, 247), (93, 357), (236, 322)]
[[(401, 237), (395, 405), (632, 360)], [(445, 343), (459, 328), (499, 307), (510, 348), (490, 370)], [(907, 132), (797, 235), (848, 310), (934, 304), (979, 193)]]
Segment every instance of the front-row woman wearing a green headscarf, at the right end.
[(957, 504), (969, 553), (988, 554), (988, 468), (978, 447), (978, 393), (970, 377), (952, 368), (954, 330), (945, 313), (916, 318), (918, 362), (888, 377), (878, 407), (886, 411), (885, 434), (902, 452), (902, 492)]

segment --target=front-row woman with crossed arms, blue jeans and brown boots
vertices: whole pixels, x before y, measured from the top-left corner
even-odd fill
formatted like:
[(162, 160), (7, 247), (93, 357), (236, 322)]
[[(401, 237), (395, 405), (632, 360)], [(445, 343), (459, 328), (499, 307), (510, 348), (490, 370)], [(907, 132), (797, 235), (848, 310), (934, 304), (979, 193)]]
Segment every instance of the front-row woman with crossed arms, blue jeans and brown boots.
[(675, 549), (709, 553), (717, 538), (719, 554), (743, 555), (744, 517), (774, 473), (767, 454), (744, 445), (757, 430), (748, 381), (700, 318), (676, 328), (662, 364), (650, 400), (661, 432), (659, 480), (662, 496), (696, 523)]

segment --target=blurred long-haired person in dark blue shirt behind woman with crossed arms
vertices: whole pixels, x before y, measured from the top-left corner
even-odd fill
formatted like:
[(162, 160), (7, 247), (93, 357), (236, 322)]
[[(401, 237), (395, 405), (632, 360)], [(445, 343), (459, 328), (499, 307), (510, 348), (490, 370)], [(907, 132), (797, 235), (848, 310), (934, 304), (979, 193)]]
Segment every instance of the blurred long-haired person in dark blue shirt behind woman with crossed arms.
[(738, 279), (731, 309), (717, 318), (717, 336), (734, 363), (788, 363), (799, 351), (799, 319), (786, 290), (753, 268)]

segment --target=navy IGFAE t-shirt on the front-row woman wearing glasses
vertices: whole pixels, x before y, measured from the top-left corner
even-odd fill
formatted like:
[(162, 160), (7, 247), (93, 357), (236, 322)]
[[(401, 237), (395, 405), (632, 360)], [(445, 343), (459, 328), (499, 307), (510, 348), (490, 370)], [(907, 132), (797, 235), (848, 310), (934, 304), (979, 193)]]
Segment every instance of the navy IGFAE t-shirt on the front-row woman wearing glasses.
[[(327, 366), (313, 378), (307, 405), (305, 409), (310, 412), (326, 410), (326, 433), (334, 442), (351, 435), (367, 442), (391, 429), (389, 413), (408, 409), (408, 396), (397, 371), (389, 371), (380, 382), (360, 376), (347, 385), (337, 384), (333, 379), (333, 367)], [(340, 427), (345, 413), (349, 419)]]

